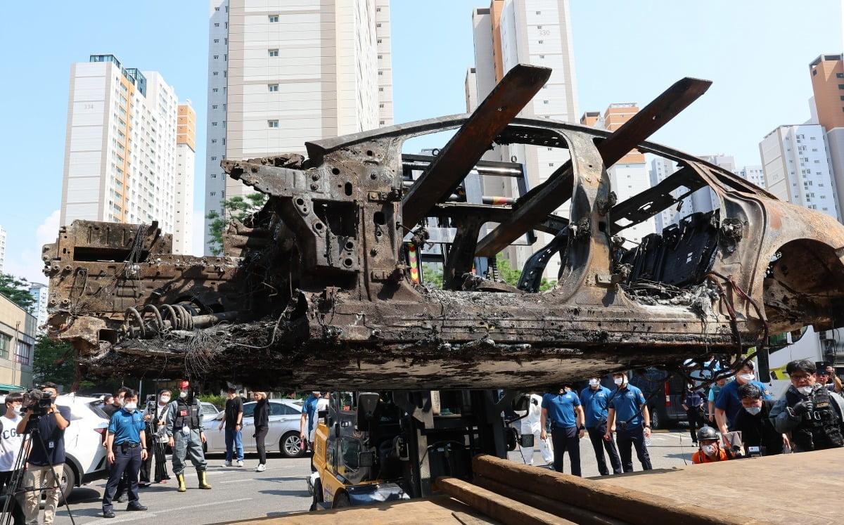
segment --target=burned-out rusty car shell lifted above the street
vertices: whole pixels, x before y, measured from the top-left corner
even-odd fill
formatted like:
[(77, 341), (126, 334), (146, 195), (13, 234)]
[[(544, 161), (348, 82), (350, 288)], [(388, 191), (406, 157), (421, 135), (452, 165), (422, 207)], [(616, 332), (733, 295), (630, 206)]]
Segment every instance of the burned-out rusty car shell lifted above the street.
[[(517, 117), (548, 73), (514, 68), (472, 115), (307, 143), (307, 158), (224, 160), (268, 196), (230, 225), (224, 257), (174, 254), (154, 224), (63, 226), (43, 254), (51, 337), (73, 344), (89, 375), (401, 390), (558, 385), (844, 325), (844, 226), (645, 140), (708, 83), (680, 81), (610, 133)], [(436, 157), (403, 157), (406, 139), (450, 129)], [(511, 143), (567, 149), (571, 160), (511, 203), (461, 198), (484, 152)], [(679, 170), (616, 202), (607, 169), (634, 148)], [(717, 209), (620, 241), (706, 188)], [(569, 216), (553, 214), (564, 203)], [(431, 225), (455, 232), (441, 245), (441, 290), (418, 279)], [(554, 241), (519, 288), (473, 273), (530, 230)], [(537, 293), (555, 254), (559, 281)]]

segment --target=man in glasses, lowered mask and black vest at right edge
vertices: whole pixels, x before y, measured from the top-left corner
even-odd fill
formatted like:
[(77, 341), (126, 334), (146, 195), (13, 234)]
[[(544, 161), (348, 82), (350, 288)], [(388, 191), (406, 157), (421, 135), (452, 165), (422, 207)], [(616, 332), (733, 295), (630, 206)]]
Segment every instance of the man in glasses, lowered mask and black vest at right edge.
[(793, 360), (786, 365), (791, 380), (771, 409), (777, 432), (791, 432), (794, 452), (844, 446), (844, 398), (817, 382), (814, 363)]

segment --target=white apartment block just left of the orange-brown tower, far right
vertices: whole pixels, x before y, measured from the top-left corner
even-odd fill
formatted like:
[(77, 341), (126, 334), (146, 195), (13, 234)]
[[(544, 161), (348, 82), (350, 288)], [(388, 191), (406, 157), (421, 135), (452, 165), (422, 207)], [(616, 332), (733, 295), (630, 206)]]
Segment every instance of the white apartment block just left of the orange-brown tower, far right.
[(759, 143), (765, 187), (789, 203), (841, 220), (836, 184), (819, 124), (776, 127)]

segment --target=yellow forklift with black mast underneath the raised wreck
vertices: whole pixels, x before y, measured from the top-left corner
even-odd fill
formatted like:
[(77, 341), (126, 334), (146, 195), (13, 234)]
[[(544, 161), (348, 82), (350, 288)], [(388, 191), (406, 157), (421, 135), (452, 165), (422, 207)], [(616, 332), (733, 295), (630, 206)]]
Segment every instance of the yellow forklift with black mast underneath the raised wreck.
[(439, 476), (472, 479), (471, 457), (532, 446), (504, 414), (521, 396), (495, 390), (332, 392), (319, 414), (311, 510), (406, 500)]

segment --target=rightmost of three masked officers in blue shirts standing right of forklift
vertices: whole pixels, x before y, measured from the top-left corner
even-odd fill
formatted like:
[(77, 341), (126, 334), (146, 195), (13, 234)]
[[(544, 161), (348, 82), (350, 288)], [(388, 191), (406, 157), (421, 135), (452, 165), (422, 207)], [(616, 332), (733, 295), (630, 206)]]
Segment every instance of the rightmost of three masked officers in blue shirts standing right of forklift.
[(621, 467), (625, 472), (633, 472), (633, 455), (630, 447), (636, 447), (642, 470), (651, 470), (651, 457), (647, 453), (645, 437), (651, 436), (651, 414), (647, 411), (645, 396), (641, 390), (627, 382), (627, 374), (613, 374), (613, 381), (618, 388), (613, 392), (607, 414), (607, 436), (615, 432), (615, 442), (619, 447)]

